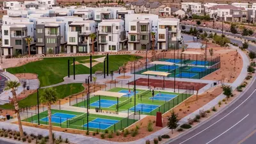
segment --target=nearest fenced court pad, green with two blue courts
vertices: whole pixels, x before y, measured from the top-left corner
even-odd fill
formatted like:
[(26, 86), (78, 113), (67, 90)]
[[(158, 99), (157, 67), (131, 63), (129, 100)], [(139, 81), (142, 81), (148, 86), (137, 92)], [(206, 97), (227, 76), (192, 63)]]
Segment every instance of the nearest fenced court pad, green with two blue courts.
[[(51, 109), (52, 112), (52, 125), (71, 128), (71, 129), (80, 129), (87, 130), (87, 117), (86, 113), (79, 113), (76, 111), (65, 111)], [(38, 115), (35, 113), (28, 113), (28, 118), (22, 120), (24, 122), (38, 123)], [(40, 113), (40, 124), (48, 125), (48, 111)], [(62, 116), (62, 117), (61, 117)], [(92, 122), (93, 121), (93, 122)], [(89, 131), (99, 131), (105, 132), (105, 129), (108, 131), (117, 131), (122, 130), (122, 128), (128, 127), (137, 120), (133, 118), (120, 118), (116, 116), (106, 116), (106, 115), (95, 115), (90, 114), (88, 117), (89, 122)], [(97, 130), (98, 129), (98, 130)]]

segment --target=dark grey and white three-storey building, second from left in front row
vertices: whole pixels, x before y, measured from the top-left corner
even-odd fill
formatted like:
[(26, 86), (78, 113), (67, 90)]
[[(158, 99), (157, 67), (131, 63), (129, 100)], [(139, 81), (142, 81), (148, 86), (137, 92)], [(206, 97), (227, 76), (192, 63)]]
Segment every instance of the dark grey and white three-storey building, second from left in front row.
[(38, 54), (59, 54), (65, 51), (65, 22), (36, 24), (36, 51)]

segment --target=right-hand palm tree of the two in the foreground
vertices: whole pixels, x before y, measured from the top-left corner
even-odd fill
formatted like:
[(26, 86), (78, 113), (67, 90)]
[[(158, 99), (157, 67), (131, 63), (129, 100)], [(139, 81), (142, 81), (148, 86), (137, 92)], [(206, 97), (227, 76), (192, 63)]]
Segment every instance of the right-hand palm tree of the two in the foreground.
[(48, 121), (49, 121), (49, 143), (53, 144), (52, 138), (52, 113), (51, 113), (51, 105), (54, 104), (57, 100), (57, 92), (52, 88), (45, 88), (44, 92), (40, 97), (40, 102), (46, 103), (48, 106)]

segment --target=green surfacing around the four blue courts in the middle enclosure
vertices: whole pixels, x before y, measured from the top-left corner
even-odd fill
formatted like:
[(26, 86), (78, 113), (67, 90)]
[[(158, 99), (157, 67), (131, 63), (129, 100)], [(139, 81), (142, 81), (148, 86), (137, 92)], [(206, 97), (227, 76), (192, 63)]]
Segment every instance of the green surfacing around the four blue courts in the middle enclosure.
[[(120, 92), (121, 90), (129, 90), (127, 88), (113, 88), (111, 90), (109, 90), (109, 92)], [(138, 93), (137, 93), (138, 92)], [(167, 95), (176, 95), (176, 97), (174, 97), (172, 100), (167, 99), (167, 100), (152, 100), (150, 98), (152, 98), (152, 93), (148, 92), (145, 95), (141, 96), (141, 94), (143, 94), (143, 92), (145, 92), (145, 90), (136, 90), (136, 105), (137, 104), (146, 104), (146, 105), (154, 105), (157, 108), (150, 108), (152, 109), (152, 111), (143, 111), (143, 114), (145, 115), (156, 115), (157, 111), (161, 111), (162, 113), (168, 111), (169, 109), (172, 109), (174, 106), (176, 106), (177, 104), (179, 104), (180, 102), (182, 102), (183, 100), (187, 99), (189, 96), (189, 94), (180, 94), (180, 93), (172, 93), (172, 92), (161, 92), (161, 95), (167, 94)], [(155, 92), (155, 95), (159, 94), (159, 92)], [(108, 96), (100, 96), (100, 99), (103, 100), (113, 100), (111, 102), (116, 102), (117, 100), (115, 97), (108, 97)], [(90, 104), (93, 104), (93, 102), (97, 102), (99, 100), (99, 96), (94, 96), (90, 98)], [(128, 102), (126, 103), (126, 100), (128, 100)], [(99, 101), (98, 101), (99, 102)], [(125, 104), (122, 106), (122, 102), (125, 102)], [(127, 113), (127, 109), (129, 109), (129, 111), (131, 111), (131, 108), (134, 107), (134, 96), (131, 96), (131, 100), (128, 97), (121, 97), (119, 98), (119, 103), (120, 103), (120, 107), (119, 107), (119, 111), (120, 112), (125, 112)], [(104, 102), (100, 103), (100, 108), (102, 110), (106, 110), (106, 111), (116, 111), (116, 104), (109, 104), (109, 107), (105, 107), (104, 108)], [(74, 104), (73, 106), (77, 106), (77, 107), (81, 107), (81, 108), (86, 108), (86, 100), (79, 102), (77, 104)], [(98, 108), (99, 106), (90, 106), (90, 109), (94, 109), (94, 108)], [(140, 108), (140, 107), (139, 107)], [(143, 106), (142, 108), (143, 109)], [(147, 108), (146, 108), (147, 109)]]

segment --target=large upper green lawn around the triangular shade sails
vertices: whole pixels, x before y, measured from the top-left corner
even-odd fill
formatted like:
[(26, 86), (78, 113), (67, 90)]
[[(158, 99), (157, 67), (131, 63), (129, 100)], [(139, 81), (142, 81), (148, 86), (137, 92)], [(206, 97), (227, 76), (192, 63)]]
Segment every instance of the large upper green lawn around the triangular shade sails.
[[(93, 56), (92, 58), (100, 58), (102, 56)], [(40, 86), (49, 86), (56, 83), (61, 83), (63, 77), (68, 75), (67, 61), (70, 60), (70, 75), (74, 74), (73, 71), (73, 58), (76, 61), (88, 60), (90, 56), (77, 56), (77, 57), (63, 57), (63, 58), (44, 58), (41, 61), (35, 61), (26, 65), (14, 68), (8, 68), (7, 71), (12, 74), (17, 73), (35, 73), (38, 74)], [(109, 56), (109, 72), (111, 70), (118, 70), (125, 62), (129, 61), (131, 55), (110, 55)], [(137, 57), (140, 58), (140, 57)], [(92, 72), (103, 70), (104, 63), (99, 63), (92, 68)], [(89, 74), (90, 68), (84, 65), (76, 65), (76, 74)]]

